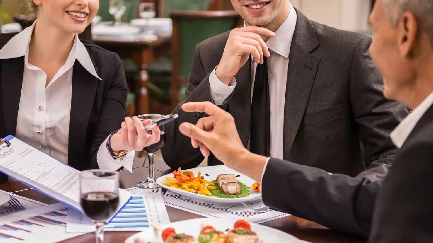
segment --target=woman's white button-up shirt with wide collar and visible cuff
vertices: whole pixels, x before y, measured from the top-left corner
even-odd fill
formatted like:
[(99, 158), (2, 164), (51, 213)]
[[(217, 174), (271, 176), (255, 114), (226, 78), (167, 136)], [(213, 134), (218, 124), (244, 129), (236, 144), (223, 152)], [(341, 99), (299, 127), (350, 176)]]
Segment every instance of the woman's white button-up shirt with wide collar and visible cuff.
[[(65, 64), (45, 86), (47, 79), (45, 72), (28, 61), (29, 43), (35, 25), (36, 21), (32, 26), (11, 38), (0, 50), (0, 59), (24, 56), (23, 86), (19, 100), (16, 137), (67, 164), (72, 67), (75, 60), (80, 62), (94, 77), (101, 79), (96, 73), (87, 49), (76, 35)], [(100, 169), (115, 170), (125, 166), (126, 169), (132, 170), (135, 153), (129, 152), (122, 160), (114, 159), (105, 147), (107, 139), (101, 144), (97, 153), (97, 163)]]

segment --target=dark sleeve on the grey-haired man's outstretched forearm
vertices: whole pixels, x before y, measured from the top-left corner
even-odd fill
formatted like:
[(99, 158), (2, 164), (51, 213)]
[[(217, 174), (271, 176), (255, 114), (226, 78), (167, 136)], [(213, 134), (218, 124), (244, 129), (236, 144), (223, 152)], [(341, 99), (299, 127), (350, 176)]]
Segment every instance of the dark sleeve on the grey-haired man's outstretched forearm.
[(381, 184), (382, 180), (329, 174), (271, 158), (262, 179), (262, 198), (275, 210), (367, 237)]

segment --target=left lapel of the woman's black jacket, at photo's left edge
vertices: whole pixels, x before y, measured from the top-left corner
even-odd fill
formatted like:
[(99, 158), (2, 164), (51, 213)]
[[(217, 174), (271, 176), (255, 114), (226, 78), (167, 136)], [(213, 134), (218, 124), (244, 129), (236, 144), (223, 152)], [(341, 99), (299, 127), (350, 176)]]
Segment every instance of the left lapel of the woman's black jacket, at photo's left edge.
[(6, 133), (15, 136), (18, 119), (19, 99), (23, 86), (24, 57), (0, 60), (3, 115)]

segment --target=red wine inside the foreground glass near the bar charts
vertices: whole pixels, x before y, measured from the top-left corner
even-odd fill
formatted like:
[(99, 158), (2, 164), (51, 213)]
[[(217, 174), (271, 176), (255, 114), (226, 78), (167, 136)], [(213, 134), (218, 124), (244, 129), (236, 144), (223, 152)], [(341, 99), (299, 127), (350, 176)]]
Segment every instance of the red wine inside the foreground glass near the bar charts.
[(116, 212), (119, 196), (113, 192), (89, 192), (81, 195), (84, 214), (94, 221), (106, 221)]

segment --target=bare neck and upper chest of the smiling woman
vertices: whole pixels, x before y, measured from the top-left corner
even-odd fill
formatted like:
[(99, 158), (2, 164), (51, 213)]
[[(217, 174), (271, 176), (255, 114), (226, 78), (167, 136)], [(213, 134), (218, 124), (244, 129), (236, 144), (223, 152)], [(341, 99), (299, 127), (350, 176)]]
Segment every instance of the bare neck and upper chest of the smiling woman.
[(62, 32), (38, 19), (29, 44), (29, 62), (64, 64), (74, 44), (74, 37), (74, 34)]

